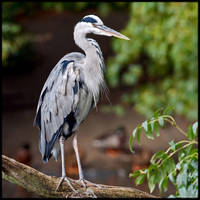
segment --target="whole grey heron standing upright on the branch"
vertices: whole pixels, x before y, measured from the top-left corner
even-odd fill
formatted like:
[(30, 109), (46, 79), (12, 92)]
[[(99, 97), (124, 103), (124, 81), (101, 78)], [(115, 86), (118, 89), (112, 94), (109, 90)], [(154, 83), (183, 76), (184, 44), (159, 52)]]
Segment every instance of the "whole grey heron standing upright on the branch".
[[(65, 180), (75, 191), (66, 176), (64, 141), (77, 130), (88, 112), (96, 107), (100, 92), (106, 89), (102, 52), (94, 39), (86, 37), (88, 33), (129, 40), (105, 26), (99, 17), (83, 17), (74, 28), (74, 40), (84, 54), (73, 52), (61, 58), (42, 88), (34, 124), (40, 129), (39, 150), (44, 162), (48, 162), (52, 155), (58, 160), (61, 154), (62, 177), (56, 190)], [(73, 148), (78, 163), (78, 181), (86, 187), (85, 183), (89, 182), (83, 177), (76, 135)]]

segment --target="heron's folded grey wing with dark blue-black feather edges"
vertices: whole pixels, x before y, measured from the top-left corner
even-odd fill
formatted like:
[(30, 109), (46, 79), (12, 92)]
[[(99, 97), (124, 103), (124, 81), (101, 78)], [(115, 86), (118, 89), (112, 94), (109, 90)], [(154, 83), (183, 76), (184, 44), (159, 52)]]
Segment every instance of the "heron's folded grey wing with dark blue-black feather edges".
[(58, 63), (50, 73), (40, 95), (36, 125), (40, 128), (39, 148), (44, 160), (51, 156), (64, 123), (75, 112), (79, 95), (79, 70), (72, 60)]

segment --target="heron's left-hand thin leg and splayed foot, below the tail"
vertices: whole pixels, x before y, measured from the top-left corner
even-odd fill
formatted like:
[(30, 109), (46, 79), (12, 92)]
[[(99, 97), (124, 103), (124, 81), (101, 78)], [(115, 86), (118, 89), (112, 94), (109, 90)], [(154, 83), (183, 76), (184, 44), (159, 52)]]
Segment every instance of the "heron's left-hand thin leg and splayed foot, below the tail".
[(59, 183), (58, 183), (58, 185), (57, 185), (57, 187), (56, 187), (56, 191), (58, 190), (58, 188), (60, 187), (60, 185), (62, 184), (62, 182), (65, 180), (65, 181), (68, 183), (68, 185), (70, 186), (70, 188), (71, 188), (74, 192), (77, 192), (77, 191), (73, 188), (73, 186), (71, 185), (69, 179), (68, 179), (67, 176), (66, 176), (66, 171), (65, 171), (65, 156), (64, 156), (64, 141), (65, 141), (64, 137), (61, 136), (59, 142), (60, 142), (61, 160), (62, 160), (62, 177), (61, 177), (61, 179), (60, 179), (60, 181), (59, 181)]

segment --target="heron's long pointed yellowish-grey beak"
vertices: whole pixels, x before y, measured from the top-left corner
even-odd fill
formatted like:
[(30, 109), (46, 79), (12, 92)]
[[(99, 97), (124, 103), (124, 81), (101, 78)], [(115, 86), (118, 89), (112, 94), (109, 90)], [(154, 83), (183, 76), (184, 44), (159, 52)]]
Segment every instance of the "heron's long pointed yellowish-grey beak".
[(130, 40), (128, 37), (126, 37), (125, 35), (122, 35), (121, 33), (107, 27), (107, 26), (104, 26), (104, 25), (96, 25), (95, 26), (96, 28), (99, 29), (99, 32), (102, 34), (102, 35), (106, 35), (106, 36), (115, 36), (115, 37), (118, 37), (118, 38), (121, 38), (121, 39), (124, 39), (124, 40)]

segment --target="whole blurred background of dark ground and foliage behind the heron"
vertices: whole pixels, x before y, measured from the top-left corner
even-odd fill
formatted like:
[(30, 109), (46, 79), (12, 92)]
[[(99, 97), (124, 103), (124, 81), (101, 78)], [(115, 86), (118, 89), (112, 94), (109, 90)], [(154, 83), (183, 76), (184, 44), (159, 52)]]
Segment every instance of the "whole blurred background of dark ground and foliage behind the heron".
[[(96, 39), (106, 63), (109, 99), (102, 98), (78, 130), (85, 178), (96, 183), (136, 187), (129, 173), (148, 166), (151, 155), (182, 138), (166, 127), (160, 137), (128, 149), (132, 130), (159, 108), (173, 105), (184, 130), (197, 120), (197, 3), (2, 3), (2, 153), (54, 176), (61, 160), (44, 164), (33, 127), (37, 101), (50, 71), (65, 54), (81, 51), (73, 28), (85, 15), (98, 15), (105, 25), (130, 41)], [(77, 178), (72, 138), (65, 142), (67, 174)], [(98, 144), (98, 145), (97, 145)], [(173, 194), (169, 184), (163, 197)], [(37, 197), (2, 181), (3, 197)], [(153, 192), (159, 195), (158, 189)]]

